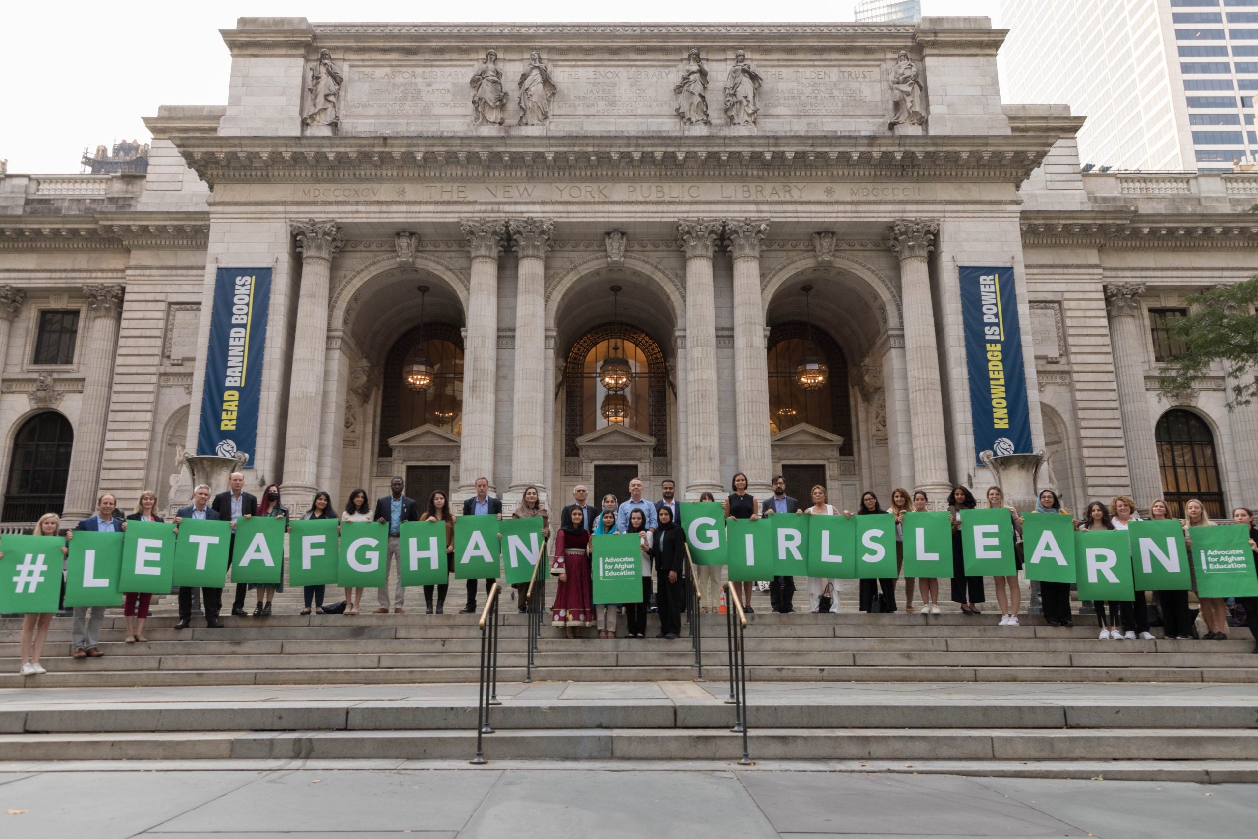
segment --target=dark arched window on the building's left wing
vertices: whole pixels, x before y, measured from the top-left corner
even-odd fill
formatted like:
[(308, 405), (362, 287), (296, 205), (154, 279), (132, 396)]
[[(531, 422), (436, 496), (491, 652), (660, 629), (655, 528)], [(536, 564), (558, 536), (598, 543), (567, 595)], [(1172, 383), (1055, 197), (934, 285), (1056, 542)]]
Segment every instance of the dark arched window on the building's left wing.
[(18, 429), (5, 484), (5, 522), (33, 522), (44, 513), (60, 514), (70, 472), (74, 429), (57, 411), (43, 411)]

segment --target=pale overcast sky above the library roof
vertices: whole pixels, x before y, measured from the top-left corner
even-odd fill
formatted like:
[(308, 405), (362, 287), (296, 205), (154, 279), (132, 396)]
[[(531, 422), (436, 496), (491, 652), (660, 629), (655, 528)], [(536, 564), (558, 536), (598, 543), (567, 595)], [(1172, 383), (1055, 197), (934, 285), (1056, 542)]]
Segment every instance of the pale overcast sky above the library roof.
[[(1045, 0), (1052, 1), (1052, 0)], [(0, 119), (0, 160), (10, 172), (77, 172), (83, 148), (117, 140), (148, 141), (141, 117), (159, 104), (226, 103), (228, 54), (219, 29), (239, 16), (301, 15), (345, 20), (520, 20), (528, 4), (481, 0), (474, 5), (294, 0), (263, 3), (125, 4), (9, 0), (0, 14), (8, 68)], [(637, 21), (852, 20), (855, 0), (765, 4), (722, 0), (682, 5), (677, 0), (624, 4), (547, 0), (540, 20)], [(988, 15), (999, 25), (998, 0), (922, 0), (926, 15)]]

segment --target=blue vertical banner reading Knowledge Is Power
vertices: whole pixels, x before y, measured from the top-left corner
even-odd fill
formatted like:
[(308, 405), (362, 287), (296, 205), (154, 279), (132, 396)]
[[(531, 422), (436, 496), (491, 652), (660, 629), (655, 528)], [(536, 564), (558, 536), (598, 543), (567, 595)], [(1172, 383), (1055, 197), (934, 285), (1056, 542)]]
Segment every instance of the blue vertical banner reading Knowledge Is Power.
[(970, 372), (974, 460), (1030, 452), (1030, 410), (1013, 268), (960, 268), (961, 327)]

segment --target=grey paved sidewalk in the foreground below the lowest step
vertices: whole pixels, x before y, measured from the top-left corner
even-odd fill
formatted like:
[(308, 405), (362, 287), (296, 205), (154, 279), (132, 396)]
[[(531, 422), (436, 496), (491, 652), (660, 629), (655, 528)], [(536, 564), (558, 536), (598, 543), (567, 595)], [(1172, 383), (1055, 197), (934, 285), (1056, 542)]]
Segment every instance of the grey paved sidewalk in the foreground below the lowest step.
[[(0, 772), (6, 839), (1244, 836), (1253, 786), (638, 769)], [(9, 813), (10, 815), (4, 815)]]

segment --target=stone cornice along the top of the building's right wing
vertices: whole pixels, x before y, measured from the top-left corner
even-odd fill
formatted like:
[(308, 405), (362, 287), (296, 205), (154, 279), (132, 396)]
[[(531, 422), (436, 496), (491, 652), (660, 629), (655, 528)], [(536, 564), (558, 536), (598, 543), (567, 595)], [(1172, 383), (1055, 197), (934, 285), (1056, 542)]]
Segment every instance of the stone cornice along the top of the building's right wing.
[(1021, 233), (1024, 248), (1249, 249), (1258, 247), (1258, 218), (1247, 213), (1033, 211), (1021, 214)]

